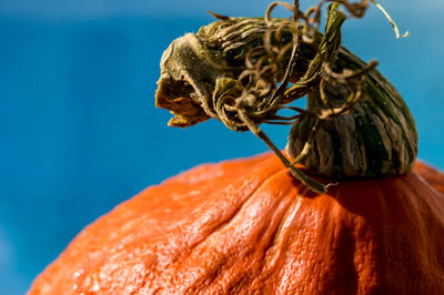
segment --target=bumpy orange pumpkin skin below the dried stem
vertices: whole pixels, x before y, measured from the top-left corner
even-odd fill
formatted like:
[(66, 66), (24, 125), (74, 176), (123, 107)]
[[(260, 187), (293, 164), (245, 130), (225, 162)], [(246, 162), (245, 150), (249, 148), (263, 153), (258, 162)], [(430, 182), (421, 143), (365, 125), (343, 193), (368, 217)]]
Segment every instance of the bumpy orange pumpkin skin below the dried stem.
[(444, 194), (415, 170), (316, 195), (271, 154), (201, 165), (89, 225), (29, 294), (444, 294)]

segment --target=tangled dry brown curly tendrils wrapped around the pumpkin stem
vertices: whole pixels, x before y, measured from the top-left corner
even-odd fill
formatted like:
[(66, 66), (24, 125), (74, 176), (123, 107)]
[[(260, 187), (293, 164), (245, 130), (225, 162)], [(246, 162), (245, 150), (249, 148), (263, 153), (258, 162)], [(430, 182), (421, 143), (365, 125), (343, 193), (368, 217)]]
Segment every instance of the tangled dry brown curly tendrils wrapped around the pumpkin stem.
[[(262, 44), (251, 48), (245, 54), (244, 64), (239, 67), (231, 67), (220, 60), (214, 60), (208, 49), (213, 40), (225, 42), (223, 45), (226, 44), (230, 49), (235, 48), (238, 43), (232, 40), (242, 38), (242, 30), (239, 29), (243, 26), (243, 22), (236, 22), (234, 18), (211, 12), (222, 23), (219, 29), (213, 28), (206, 32), (206, 35), (209, 35), (209, 38), (204, 39), (206, 59), (215, 69), (239, 72), (238, 79), (232, 82), (234, 84), (232, 84), (230, 91), (216, 96), (213, 95), (211, 105), (213, 105), (214, 110), (211, 111), (230, 129), (235, 131), (250, 130), (258, 135), (281, 159), (296, 179), (319, 193), (325, 193), (329, 185), (321, 184), (306, 176), (294, 164), (309, 153), (314, 136), (323, 122), (352, 110), (363, 94), (369, 72), (377, 65), (376, 61), (371, 61), (362, 69), (356, 71), (345, 69), (341, 73), (334, 72), (332, 69), (341, 50), (341, 27), (343, 22), (347, 17), (362, 18), (369, 7), (369, 1), (382, 9), (375, 0), (361, 0), (357, 2), (321, 0), (305, 12), (300, 10), (299, 0), (295, 0), (294, 4), (282, 1), (272, 2), (265, 11), (264, 21), (261, 23), (258, 20), (252, 28), (249, 28), (249, 30), (263, 32)], [(320, 41), (319, 28), (321, 26), (322, 9), (327, 2), (331, 3), (329, 6), (325, 31)], [(339, 10), (340, 6), (345, 8), (349, 16)], [(292, 17), (276, 22), (272, 18), (272, 12), (276, 7), (283, 7), (291, 11)], [(386, 14), (385, 10), (383, 12)], [(386, 17), (395, 28), (398, 37), (396, 26), (389, 14)], [(281, 42), (284, 30), (290, 31), (292, 34), (292, 42), (286, 44)], [(302, 43), (316, 45), (317, 50), (305, 73), (296, 81), (291, 81), (295, 61), (301, 53)], [(285, 57), (289, 55), (289, 51), (291, 51), (290, 59), (284, 65), (284, 73), (282, 73), (281, 64), (285, 61)], [(325, 89), (329, 85), (337, 84), (346, 87), (350, 95), (342, 105), (334, 108)], [(324, 108), (307, 111), (285, 105), (312, 92), (314, 89), (319, 90)], [(290, 116), (278, 115), (278, 112), (282, 109), (292, 110), (296, 114)], [(314, 116), (319, 120), (311, 134), (309, 134), (302, 152), (291, 162), (271, 142), (259, 125), (262, 123), (295, 124), (303, 116)]]

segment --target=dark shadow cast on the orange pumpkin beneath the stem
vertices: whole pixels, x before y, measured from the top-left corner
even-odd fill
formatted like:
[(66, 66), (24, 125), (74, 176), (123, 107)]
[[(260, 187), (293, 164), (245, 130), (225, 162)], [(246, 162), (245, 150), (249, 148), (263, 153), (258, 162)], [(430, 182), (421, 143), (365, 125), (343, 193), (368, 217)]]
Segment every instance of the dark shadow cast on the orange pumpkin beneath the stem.
[[(414, 171), (406, 176), (341, 182), (330, 186), (324, 195), (302, 189), (303, 202), (314, 203), (313, 200), (320, 199), (319, 204), (327, 206), (329, 212), (341, 211), (336, 214), (340, 220), (331, 221), (335, 224), (333, 231), (341, 232), (333, 235), (343, 245), (335, 250), (339, 257), (341, 253), (345, 255), (341, 258), (343, 262), (353, 262), (354, 253), (363, 252), (360, 244), (372, 241), (365, 245), (366, 255), (373, 262), (369, 274), (377, 274), (375, 279), (381, 291), (400, 286), (396, 282), (406, 278), (428, 286), (438, 286), (442, 282), (438, 274), (444, 265), (444, 195), (424, 180), (427, 175), (422, 177), (424, 167), (421, 169), (421, 175)], [(436, 177), (434, 181), (444, 183)], [(293, 183), (301, 189), (300, 182)], [(329, 216), (322, 218), (329, 220)], [(356, 263), (351, 263), (346, 268), (354, 271)], [(355, 284), (356, 279), (355, 273), (347, 274), (349, 283)]]

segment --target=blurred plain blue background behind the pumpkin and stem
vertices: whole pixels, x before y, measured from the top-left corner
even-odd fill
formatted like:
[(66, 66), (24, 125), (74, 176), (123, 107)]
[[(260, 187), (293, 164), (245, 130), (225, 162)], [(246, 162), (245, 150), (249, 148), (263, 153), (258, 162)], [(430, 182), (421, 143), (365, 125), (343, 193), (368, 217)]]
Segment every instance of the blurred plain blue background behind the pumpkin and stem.
[[(266, 151), (214, 120), (168, 128), (153, 95), (162, 51), (210, 22), (206, 10), (252, 17), (268, 3), (0, 2), (0, 294), (23, 294), (82, 227), (145, 186)], [(372, 8), (345, 24), (344, 43), (380, 61), (416, 118), (420, 157), (444, 169), (444, 2), (382, 3), (411, 37), (396, 40)], [(284, 148), (286, 128), (266, 131)]]

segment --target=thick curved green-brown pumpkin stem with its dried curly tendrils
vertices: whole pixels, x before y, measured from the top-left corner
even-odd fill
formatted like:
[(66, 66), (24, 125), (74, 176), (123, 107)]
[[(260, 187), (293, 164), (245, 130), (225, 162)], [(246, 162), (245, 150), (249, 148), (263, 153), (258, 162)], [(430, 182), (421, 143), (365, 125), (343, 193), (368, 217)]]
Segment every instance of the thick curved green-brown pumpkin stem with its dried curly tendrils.
[[(331, 4), (322, 34), (319, 32), (321, 11), (326, 2)], [(372, 2), (377, 4), (373, 0)], [(279, 6), (291, 11), (292, 17), (273, 19), (272, 12)], [(376, 61), (365, 64), (341, 47), (341, 27), (347, 16), (339, 9), (340, 6), (344, 7), (349, 16), (361, 18), (369, 7), (369, 0), (322, 0), (305, 13), (300, 11), (297, 0), (294, 4), (272, 2), (263, 20), (211, 12), (218, 21), (201, 28), (196, 34), (186, 34), (175, 40), (165, 51), (169, 53), (162, 57), (157, 105), (173, 113), (174, 118), (169, 125), (189, 126), (214, 118), (234, 131), (251, 131), (281, 159), (295, 179), (319, 193), (324, 193), (327, 186), (299, 171), (295, 163), (303, 163), (310, 171), (336, 180), (407, 173), (417, 153), (413, 118), (396, 90), (375, 70)], [(382, 8), (379, 4), (377, 7)], [(387, 16), (385, 10), (383, 12)], [(392, 19), (387, 18), (397, 30)], [(178, 88), (170, 91), (171, 85)], [(376, 89), (382, 89), (382, 92), (374, 92)], [(320, 101), (312, 108), (310, 105), (314, 103), (311, 101), (317, 100), (316, 93)], [(306, 94), (310, 108), (285, 105)], [(374, 165), (369, 163), (373, 160), (362, 151), (371, 154), (369, 151), (379, 149), (374, 145), (375, 141), (354, 143), (355, 139), (350, 139), (350, 142), (343, 143), (344, 149), (331, 151), (351, 152), (353, 149), (350, 150), (350, 146), (363, 145), (356, 155), (340, 156), (357, 159), (354, 163), (343, 163), (344, 171), (332, 170), (325, 166), (324, 161), (313, 160), (313, 146), (320, 144), (319, 135), (325, 132), (331, 122), (337, 123), (342, 120), (339, 118), (351, 113), (357, 118), (361, 113), (355, 110), (362, 108), (379, 110), (381, 103), (372, 101), (381, 100), (383, 104), (389, 103), (389, 109), (402, 109), (401, 116), (405, 116), (404, 119), (398, 118), (397, 110), (394, 111), (395, 116), (390, 110), (379, 114), (381, 119), (376, 119), (385, 120), (389, 125), (408, 122), (400, 131), (406, 134), (405, 143), (401, 143), (406, 146), (398, 146), (400, 143), (395, 143), (395, 139), (389, 135), (375, 138), (379, 144), (384, 145), (384, 151), (381, 151), (381, 163)], [(372, 102), (371, 106), (363, 101)], [(282, 109), (292, 110), (296, 114), (279, 115), (278, 112)], [(372, 120), (352, 123), (364, 124), (360, 126), (362, 130), (372, 130)], [(263, 123), (293, 126), (287, 144), (293, 160), (286, 159), (273, 144), (260, 128)], [(302, 134), (302, 129), (299, 128), (301, 124), (310, 125)], [(343, 130), (350, 128), (342, 122), (339, 125)], [(300, 140), (303, 141), (302, 146)], [(329, 145), (327, 142), (322, 144)], [(392, 145), (396, 145), (400, 154), (392, 156)], [(324, 156), (322, 153), (321, 155)], [(379, 156), (380, 153), (375, 155)]]

